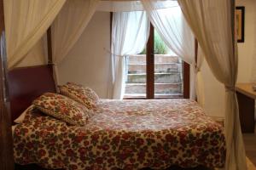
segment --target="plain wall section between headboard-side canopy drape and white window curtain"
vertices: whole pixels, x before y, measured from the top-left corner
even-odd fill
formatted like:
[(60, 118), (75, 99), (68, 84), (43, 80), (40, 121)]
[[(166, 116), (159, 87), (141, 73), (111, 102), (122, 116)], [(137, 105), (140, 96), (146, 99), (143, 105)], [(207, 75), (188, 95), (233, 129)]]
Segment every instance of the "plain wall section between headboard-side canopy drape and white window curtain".
[(60, 83), (78, 82), (108, 97), (110, 14), (96, 12), (79, 41), (59, 65)]

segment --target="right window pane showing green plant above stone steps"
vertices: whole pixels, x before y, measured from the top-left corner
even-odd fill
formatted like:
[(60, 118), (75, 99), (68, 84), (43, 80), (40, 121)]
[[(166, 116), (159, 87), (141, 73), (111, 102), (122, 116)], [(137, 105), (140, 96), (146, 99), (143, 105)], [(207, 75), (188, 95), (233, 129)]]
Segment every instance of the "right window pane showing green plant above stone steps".
[(154, 30), (154, 98), (183, 95), (182, 63)]

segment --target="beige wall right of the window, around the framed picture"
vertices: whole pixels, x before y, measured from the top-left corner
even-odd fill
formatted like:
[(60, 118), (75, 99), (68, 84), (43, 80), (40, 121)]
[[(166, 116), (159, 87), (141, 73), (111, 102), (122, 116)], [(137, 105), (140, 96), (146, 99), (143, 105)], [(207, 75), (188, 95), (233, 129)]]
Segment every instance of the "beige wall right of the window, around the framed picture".
[[(245, 42), (238, 43), (238, 77), (237, 82), (251, 82), (253, 56), (256, 38), (256, 1), (236, 0), (236, 6), (245, 6)], [(224, 116), (224, 86), (213, 77), (207, 63), (202, 65), (205, 82), (205, 110), (211, 116)]]

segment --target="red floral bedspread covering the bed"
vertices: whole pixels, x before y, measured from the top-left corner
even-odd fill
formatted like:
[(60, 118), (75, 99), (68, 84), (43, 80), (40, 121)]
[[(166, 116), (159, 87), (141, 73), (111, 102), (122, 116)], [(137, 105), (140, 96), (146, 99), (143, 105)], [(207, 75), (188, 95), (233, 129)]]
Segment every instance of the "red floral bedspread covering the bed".
[(224, 167), (223, 129), (189, 99), (108, 100), (84, 127), (35, 109), (15, 128), (15, 162), (45, 168)]

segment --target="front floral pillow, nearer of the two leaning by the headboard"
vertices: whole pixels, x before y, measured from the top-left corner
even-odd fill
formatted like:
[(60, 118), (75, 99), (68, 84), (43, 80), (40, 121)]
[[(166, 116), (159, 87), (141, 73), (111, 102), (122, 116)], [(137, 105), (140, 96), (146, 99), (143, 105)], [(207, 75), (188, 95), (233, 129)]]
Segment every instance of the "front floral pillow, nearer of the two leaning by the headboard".
[(32, 102), (39, 111), (53, 116), (70, 125), (84, 126), (91, 116), (91, 112), (83, 105), (61, 94), (46, 93)]

